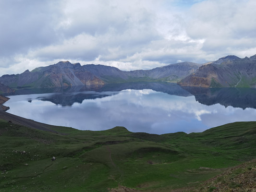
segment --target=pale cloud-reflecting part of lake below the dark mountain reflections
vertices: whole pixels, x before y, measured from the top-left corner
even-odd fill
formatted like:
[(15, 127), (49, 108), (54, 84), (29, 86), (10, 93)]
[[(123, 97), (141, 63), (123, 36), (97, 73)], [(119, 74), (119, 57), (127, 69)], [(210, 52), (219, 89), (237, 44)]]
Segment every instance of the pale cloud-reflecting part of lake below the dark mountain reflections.
[(54, 94), (10, 96), (6, 106), (10, 107), (9, 113), (27, 119), (93, 131), (124, 126), (132, 132), (190, 133), (256, 119), (254, 108), (206, 106), (195, 101), (195, 96), (175, 96), (150, 89), (90, 94), (98, 96), (68, 107), (47, 101)]

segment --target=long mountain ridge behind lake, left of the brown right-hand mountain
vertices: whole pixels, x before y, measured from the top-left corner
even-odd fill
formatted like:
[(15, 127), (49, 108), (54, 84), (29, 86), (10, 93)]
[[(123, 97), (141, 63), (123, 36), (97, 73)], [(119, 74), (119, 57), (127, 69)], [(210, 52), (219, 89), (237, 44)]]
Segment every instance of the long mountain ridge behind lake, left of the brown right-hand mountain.
[(47, 67), (38, 67), (21, 74), (3, 75), (0, 83), (12, 88), (50, 88), (77, 85), (103, 85), (106, 83), (125, 83), (136, 81), (177, 82), (195, 72), (200, 64), (183, 62), (158, 67), (152, 70), (125, 72), (104, 65), (83, 65), (61, 61)]

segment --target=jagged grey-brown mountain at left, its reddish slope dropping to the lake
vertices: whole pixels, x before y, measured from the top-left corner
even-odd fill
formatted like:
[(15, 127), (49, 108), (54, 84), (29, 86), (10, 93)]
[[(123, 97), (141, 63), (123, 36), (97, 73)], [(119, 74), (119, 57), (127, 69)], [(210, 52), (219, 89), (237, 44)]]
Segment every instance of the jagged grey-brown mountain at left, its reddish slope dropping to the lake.
[(13, 88), (49, 88), (76, 85), (104, 84), (90, 72), (81, 72), (79, 63), (61, 61), (47, 67), (39, 67), (21, 74), (3, 75), (0, 77), (2, 84)]

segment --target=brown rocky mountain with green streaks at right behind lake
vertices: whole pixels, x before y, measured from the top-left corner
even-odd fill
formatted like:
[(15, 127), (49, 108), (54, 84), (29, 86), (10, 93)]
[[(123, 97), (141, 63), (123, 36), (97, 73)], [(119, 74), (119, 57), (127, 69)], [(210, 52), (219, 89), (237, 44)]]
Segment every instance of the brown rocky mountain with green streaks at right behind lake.
[(256, 55), (244, 59), (227, 56), (209, 62), (178, 84), (196, 87), (256, 87)]

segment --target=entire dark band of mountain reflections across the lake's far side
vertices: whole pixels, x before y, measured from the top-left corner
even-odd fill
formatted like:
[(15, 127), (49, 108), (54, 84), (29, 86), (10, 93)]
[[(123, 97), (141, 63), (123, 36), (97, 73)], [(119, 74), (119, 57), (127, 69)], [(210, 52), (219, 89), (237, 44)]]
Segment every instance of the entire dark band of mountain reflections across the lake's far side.
[[(50, 101), (56, 105), (72, 106), (73, 103), (82, 103), (85, 99), (95, 99), (117, 94), (126, 89), (142, 90), (151, 89), (153, 91), (167, 93), (174, 96), (195, 96), (195, 100), (201, 104), (210, 106), (220, 104), (225, 107), (234, 108), (256, 108), (255, 88), (201, 88), (201, 87), (181, 87), (174, 83), (124, 83), (107, 84), (101, 86), (74, 86), (52, 89), (27, 89), (17, 91), (17, 95), (32, 93), (55, 93), (49, 97), (42, 97), (42, 101)], [(91, 92), (90, 92), (91, 91)], [(102, 93), (105, 92), (105, 93)]]

